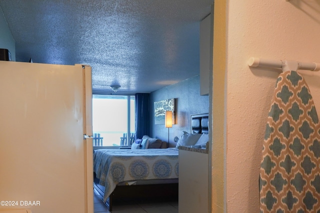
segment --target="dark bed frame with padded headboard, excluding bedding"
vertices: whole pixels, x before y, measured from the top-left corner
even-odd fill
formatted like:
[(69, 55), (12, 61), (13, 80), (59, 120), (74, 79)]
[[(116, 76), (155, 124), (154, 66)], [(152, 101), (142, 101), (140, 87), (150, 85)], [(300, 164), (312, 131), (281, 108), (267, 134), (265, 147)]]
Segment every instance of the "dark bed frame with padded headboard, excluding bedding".
[[(191, 114), (191, 132), (207, 133), (208, 132), (208, 113)], [(93, 188), (103, 201), (104, 186), (99, 184), (99, 179), (93, 173)], [(145, 184), (145, 185), (117, 185), (110, 196), (107, 198), (105, 205), (109, 211), (112, 210), (112, 204), (115, 199), (125, 198), (167, 198), (178, 200), (178, 183), (163, 184)]]

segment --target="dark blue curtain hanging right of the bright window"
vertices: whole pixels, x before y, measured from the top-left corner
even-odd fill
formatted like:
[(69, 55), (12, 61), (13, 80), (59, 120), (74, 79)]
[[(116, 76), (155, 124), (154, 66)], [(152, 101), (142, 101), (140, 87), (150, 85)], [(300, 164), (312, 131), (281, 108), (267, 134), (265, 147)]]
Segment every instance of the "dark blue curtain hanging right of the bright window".
[(149, 93), (135, 94), (135, 137), (149, 135)]

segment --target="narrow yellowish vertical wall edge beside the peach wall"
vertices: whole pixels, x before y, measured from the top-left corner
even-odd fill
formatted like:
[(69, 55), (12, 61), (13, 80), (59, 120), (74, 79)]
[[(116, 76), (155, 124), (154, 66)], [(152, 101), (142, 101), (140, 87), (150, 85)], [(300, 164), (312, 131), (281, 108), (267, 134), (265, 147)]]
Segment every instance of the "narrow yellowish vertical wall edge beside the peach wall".
[[(226, 62), (226, 2), (224, 0), (215, 1), (211, 14), (213, 17), (213, 64), (212, 64), (212, 84), (209, 91), (209, 107), (212, 111), (212, 150), (209, 159), (211, 165), (211, 190), (209, 190), (209, 208), (211, 212), (223, 212), (225, 209), (225, 62)], [(212, 15), (211, 15), (212, 17)], [(211, 76), (211, 75), (210, 75)]]

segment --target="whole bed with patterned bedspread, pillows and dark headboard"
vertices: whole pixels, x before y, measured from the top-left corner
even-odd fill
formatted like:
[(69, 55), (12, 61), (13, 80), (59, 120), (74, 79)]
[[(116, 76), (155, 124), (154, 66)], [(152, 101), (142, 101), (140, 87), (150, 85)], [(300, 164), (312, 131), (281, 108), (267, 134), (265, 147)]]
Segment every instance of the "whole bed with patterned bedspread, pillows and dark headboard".
[[(177, 198), (177, 147), (200, 146), (208, 141), (208, 114), (193, 114), (190, 119), (190, 132), (183, 131), (176, 147), (94, 150), (94, 190), (110, 211), (115, 198), (137, 195)], [(155, 138), (149, 141), (153, 141), (153, 145), (156, 143)]]

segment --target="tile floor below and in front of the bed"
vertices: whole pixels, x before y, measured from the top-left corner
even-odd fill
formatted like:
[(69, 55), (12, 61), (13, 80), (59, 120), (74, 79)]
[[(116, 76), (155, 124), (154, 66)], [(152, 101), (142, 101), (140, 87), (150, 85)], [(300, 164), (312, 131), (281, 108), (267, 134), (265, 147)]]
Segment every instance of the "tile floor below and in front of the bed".
[(94, 191), (94, 213), (178, 213), (178, 201), (167, 200), (114, 200), (112, 211), (108, 211), (105, 204)]

